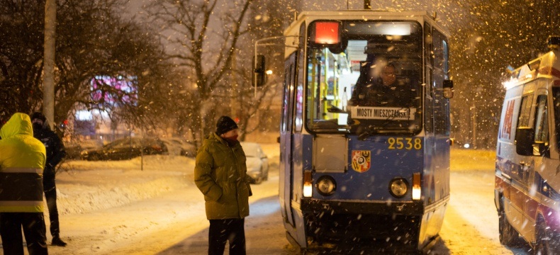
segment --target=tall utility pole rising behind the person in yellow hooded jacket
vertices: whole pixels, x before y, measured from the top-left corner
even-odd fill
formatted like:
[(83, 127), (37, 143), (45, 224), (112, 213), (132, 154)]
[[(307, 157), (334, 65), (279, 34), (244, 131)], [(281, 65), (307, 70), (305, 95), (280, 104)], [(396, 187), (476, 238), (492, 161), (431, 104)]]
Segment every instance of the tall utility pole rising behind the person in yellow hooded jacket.
[(43, 58), (43, 114), (50, 129), (55, 125), (55, 34), (57, 1), (45, 2), (45, 52)]

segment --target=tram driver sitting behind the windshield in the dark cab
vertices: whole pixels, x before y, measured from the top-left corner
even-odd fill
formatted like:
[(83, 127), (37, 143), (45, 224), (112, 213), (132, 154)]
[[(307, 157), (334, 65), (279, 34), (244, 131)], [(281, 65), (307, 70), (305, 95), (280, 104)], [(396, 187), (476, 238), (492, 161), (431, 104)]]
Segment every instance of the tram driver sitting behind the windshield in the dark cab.
[(378, 79), (374, 79), (372, 70), (369, 64), (364, 64), (360, 68), (360, 76), (352, 91), (349, 106), (411, 106), (413, 93), (409, 86), (398, 84), (395, 64), (386, 64), (381, 69)]

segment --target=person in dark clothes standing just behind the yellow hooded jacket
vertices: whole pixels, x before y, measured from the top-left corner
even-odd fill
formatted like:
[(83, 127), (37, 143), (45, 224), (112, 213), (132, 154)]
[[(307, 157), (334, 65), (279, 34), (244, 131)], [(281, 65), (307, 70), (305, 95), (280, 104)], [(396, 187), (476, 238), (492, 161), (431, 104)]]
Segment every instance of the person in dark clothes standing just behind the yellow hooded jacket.
[(47, 208), (49, 210), (50, 234), (52, 235), (52, 245), (66, 246), (66, 242), (60, 239), (60, 224), (58, 222), (57, 208), (57, 186), (55, 183), (56, 166), (66, 156), (66, 150), (60, 137), (50, 130), (47, 125), (47, 118), (43, 113), (33, 113), (31, 115), (31, 123), (33, 123), (33, 137), (37, 138), (47, 149), (47, 164), (43, 171), (43, 189), (45, 190), (45, 198), (47, 199)]

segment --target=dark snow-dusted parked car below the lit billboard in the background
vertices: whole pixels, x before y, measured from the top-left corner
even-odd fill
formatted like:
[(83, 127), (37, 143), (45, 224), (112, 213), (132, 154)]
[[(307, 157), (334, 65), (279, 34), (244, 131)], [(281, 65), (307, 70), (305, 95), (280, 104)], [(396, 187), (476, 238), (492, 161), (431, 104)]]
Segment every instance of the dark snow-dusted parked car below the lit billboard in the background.
[(155, 138), (127, 137), (115, 140), (100, 149), (82, 152), (83, 160), (123, 160), (140, 157), (140, 155), (167, 154), (167, 146)]

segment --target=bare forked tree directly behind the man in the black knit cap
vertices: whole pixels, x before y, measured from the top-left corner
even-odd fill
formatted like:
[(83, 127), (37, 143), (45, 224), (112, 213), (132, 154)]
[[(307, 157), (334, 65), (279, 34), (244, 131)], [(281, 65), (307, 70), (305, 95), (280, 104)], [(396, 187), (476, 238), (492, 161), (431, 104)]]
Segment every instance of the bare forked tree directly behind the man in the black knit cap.
[(199, 142), (213, 130), (218, 115), (229, 114), (223, 88), (231, 89), (227, 78), (240, 37), (250, 30), (245, 20), (252, 2), (164, 0), (147, 6), (154, 23), (162, 26), (167, 59), (186, 69), (191, 84), (177, 98), (177, 123), (188, 125)]

